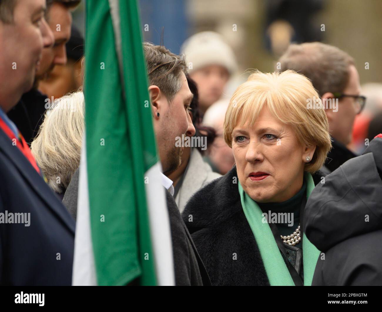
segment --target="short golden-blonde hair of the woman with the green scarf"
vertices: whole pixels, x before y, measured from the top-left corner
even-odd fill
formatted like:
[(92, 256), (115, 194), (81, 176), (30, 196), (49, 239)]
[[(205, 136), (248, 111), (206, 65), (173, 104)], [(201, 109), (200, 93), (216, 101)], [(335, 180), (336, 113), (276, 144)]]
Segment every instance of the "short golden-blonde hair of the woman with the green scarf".
[(233, 93), (225, 114), (224, 140), (232, 147), (232, 131), (238, 122), (241, 126), (248, 122), (253, 127), (266, 105), (276, 119), (291, 125), (301, 145), (316, 145), (312, 160), (305, 164), (305, 171), (314, 173), (322, 167), (332, 147), (324, 109), (307, 108), (309, 99), (314, 98), (319, 99), (319, 95), (310, 80), (295, 71), (255, 71)]

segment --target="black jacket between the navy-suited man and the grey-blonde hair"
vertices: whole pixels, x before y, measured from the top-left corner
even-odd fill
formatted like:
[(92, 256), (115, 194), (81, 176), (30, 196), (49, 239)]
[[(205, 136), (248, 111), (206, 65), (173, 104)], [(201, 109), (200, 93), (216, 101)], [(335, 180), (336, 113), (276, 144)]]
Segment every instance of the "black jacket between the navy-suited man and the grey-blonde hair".
[(32, 89), (24, 93), (17, 105), (7, 114), (28, 144), (32, 143), (44, 121), (46, 98), (47, 96), (39, 90)]

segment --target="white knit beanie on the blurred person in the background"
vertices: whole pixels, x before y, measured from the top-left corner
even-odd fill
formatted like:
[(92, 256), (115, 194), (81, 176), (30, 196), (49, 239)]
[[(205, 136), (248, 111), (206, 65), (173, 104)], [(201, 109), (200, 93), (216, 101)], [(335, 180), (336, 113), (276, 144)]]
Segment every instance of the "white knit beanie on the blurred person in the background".
[(237, 68), (231, 47), (217, 32), (204, 31), (192, 35), (181, 46), (181, 53), (186, 55), (187, 63), (192, 63), (189, 73), (204, 66), (221, 65), (231, 75)]

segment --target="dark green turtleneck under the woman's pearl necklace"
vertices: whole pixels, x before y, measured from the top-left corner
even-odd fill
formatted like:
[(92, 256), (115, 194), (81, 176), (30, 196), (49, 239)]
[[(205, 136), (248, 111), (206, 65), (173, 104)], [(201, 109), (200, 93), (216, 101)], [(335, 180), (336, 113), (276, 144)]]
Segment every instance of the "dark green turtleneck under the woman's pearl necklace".
[[(303, 186), (301, 187), (301, 190), (297, 192), (295, 196), (292, 198), (283, 201), (282, 203), (257, 203), (262, 210), (262, 212), (269, 214), (270, 213), (287, 213), (292, 214), (293, 213), (293, 226), (288, 226), (288, 219), (291, 220), (291, 217), (287, 218), (287, 220), (284, 220), (285, 223), (277, 223), (277, 229), (280, 232), (280, 235), (287, 236), (291, 235), (291, 233), (296, 231), (296, 228), (300, 224), (300, 208), (301, 208), (301, 202), (303, 200), (303, 196), (306, 196), (306, 181), (304, 179)], [(281, 239), (281, 238), (280, 238)], [(291, 263), (293, 267), (296, 267), (296, 256), (297, 252), (295, 250), (292, 250), (289, 248), (289, 245), (284, 244), (286, 248), (286, 255), (288, 261)], [(296, 244), (296, 247), (303, 248), (302, 244)], [(303, 275), (303, 267), (302, 267), (302, 260), (301, 260), (301, 270), (300, 270), (300, 276), (301, 278), (304, 278)]]

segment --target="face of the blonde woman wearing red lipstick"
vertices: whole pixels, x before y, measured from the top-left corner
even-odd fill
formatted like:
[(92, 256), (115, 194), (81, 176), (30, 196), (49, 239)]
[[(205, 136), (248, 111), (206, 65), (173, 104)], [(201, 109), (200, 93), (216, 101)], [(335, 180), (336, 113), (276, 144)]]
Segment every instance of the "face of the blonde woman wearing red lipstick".
[[(247, 123), (248, 124), (248, 123)], [(282, 202), (303, 185), (306, 156), (315, 147), (301, 146), (290, 125), (272, 116), (264, 106), (253, 127), (232, 132), (232, 150), (238, 178), (244, 191), (259, 203)]]

